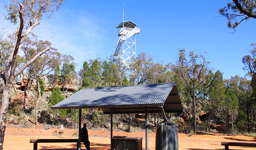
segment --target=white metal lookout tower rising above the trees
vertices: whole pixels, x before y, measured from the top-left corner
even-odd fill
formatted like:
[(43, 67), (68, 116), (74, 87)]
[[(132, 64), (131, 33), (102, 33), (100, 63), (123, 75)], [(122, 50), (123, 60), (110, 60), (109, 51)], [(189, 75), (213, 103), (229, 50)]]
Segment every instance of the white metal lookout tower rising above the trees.
[(140, 28), (132, 21), (123, 21), (117, 28), (117, 44), (114, 50), (114, 56), (120, 58), (123, 65), (130, 68), (136, 58), (136, 35), (140, 33)]

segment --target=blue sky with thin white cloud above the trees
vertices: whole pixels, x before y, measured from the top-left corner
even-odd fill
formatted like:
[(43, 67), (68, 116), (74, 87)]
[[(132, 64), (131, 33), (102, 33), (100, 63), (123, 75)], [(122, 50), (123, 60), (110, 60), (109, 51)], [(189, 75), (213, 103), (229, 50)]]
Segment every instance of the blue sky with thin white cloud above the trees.
[[(175, 63), (179, 49), (196, 54), (207, 52), (206, 60), (224, 78), (245, 76), (241, 61), (255, 43), (256, 19), (242, 22), (235, 34), (218, 10), (223, 1), (124, 1), (124, 20), (141, 28), (136, 36), (136, 53), (153, 55), (154, 62)], [(4, 20), (4, 4), (0, 2), (0, 27), (8, 32), (17, 29)], [(122, 22), (123, 1), (66, 1), (50, 19), (45, 17), (34, 33), (41, 40), (52, 42), (60, 53), (71, 55), (79, 71), (84, 61), (110, 57), (117, 40), (115, 27)], [(217, 18), (216, 18), (217, 17)]]

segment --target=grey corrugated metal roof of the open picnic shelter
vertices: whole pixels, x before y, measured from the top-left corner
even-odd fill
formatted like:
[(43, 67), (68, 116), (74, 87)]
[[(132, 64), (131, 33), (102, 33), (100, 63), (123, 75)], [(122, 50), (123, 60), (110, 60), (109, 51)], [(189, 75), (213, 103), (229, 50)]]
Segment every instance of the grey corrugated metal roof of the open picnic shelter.
[[(105, 114), (182, 112), (183, 107), (175, 83), (83, 88), (51, 109), (101, 108)], [(165, 104), (166, 103), (166, 104)]]

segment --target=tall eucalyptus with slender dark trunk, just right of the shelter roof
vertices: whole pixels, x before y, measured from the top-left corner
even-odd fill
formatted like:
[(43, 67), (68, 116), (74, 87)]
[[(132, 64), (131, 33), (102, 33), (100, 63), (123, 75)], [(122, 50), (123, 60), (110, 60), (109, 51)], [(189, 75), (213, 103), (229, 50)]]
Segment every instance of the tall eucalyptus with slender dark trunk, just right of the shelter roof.
[(176, 65), (172, 65), (172, 71), (181, 77), (186, 83), (187, 91), (193, 100), (193, 131), (196, 134), (196, 91), (208, 77), (210, 64), (205, 60), (202, 54), (189, 52), (190, 60), (186, 58), (186, 50), (179, 51), (179, 57), (176, 59)]

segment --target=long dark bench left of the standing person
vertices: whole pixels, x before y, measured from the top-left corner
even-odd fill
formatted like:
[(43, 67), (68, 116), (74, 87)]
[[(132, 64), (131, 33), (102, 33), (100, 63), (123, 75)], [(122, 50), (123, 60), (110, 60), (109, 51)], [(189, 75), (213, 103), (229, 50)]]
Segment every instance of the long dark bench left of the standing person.
[(37, 143), (73, 143), (73, 142), (76, 143), (76, 147), (78, 148), (78, 139), (30, 139), (30, 143), (34, 143), (33, 150), (37, 150)]

